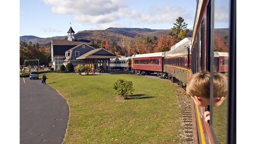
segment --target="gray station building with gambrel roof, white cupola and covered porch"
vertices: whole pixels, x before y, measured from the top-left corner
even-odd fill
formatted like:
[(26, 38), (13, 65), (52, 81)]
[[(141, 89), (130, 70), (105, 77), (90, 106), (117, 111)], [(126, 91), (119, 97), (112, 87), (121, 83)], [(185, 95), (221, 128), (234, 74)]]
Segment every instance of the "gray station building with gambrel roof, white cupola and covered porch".
[(93, 64), (94, 69), (102, 67), (105, 68), (105, 73), (109, 73), (110, 60), (120, 57), (104, 48), (92, 47), (90, 40), (76, 40), (72, 27), (67, 33), (68, 39), (52, 39), (51, 59), (54, 70), (67, 63), (72, 63), (74, 67), (78, 64)]

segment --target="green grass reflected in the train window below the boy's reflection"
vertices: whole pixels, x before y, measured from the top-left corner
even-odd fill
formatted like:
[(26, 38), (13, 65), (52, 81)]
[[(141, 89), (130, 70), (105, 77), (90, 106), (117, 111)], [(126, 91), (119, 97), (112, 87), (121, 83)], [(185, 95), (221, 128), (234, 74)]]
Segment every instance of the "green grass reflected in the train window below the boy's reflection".
[(218, 107), (213, 107), (213, 130), (219, 144), (227, 143), (227, 98)]

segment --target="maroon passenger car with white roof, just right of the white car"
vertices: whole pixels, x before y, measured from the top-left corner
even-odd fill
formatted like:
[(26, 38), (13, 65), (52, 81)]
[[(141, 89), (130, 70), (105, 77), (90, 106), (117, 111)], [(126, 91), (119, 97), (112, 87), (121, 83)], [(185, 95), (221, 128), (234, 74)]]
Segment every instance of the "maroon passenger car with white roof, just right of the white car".
[(132, 68), (137, 75), (157, 73), (162, 77), (164, 72), (164, 55), (166, 52), (132, 55)]

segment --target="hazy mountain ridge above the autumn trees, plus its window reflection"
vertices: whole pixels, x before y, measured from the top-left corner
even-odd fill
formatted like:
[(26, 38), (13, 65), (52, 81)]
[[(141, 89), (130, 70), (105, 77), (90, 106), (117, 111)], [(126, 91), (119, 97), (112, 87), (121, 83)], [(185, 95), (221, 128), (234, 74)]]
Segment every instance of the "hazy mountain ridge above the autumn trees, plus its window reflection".
[[(84, 30), (77, 32), (74, 37), (75, 39), (87, 39), (87, 40), (98, 40), (101, 43), (102, 39), (108, 38), (110, 41), (116, 41), (119, 45), (123, 36), (134, 38), (136, 35), (139, 37), (141, 35), (146, 35), (149, 37), (160, 37), (161, 35), (169, 35), (171, 29), (167, 30), (154, 30), (148, 28), (107, 28), (106, 30)], [(215, 29), (215, 34), (223, 38), (228, 35), (228, 29)], [(192, 36), (192, 30), (189, 30), (189, 37)], [(40, 38), (36, 36), (20, 36), (20, 41), (26, 41), (32, 44), (37, 42), (40, 45), (51, 44), (52, 39), (67, 39), (67, 36), (55, 36), (50, 38)]]

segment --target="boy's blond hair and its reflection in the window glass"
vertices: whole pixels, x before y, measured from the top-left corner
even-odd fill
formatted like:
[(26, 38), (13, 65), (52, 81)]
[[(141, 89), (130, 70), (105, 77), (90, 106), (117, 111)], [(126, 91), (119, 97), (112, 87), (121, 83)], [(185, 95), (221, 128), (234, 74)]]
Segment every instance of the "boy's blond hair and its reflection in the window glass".
[[(227, 97), (227, 77), (224, 74), (218, 72), (214, 72), (213, 77), (213, 97)], [(192, 97), (199, 96), (210, 98), (210, 72), (202, 71), (193, 74), (188, 82), (186, 91)]]

